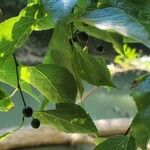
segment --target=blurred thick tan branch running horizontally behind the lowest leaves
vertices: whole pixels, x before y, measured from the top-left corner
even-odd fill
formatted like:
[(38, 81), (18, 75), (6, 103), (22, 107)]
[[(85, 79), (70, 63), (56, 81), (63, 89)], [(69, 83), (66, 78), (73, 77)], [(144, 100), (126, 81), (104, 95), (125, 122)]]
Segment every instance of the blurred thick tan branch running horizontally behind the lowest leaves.
[[(112, 135), (125, 134), (131, 124), (131, 120), (131, 118), (102, 119), (95, 121), (95, 125), (97, 126), (97, 129), (102, 137), (108, 137)], [(3, 132), (7, 131), (3, 130)], [(14, 132), (4, 141), (0, 142), (0, 148), (3, 150), (8, 150), (40, 145), (81, 143), (95, 145), (94, 138), (88, 136), (87, 134), (67, 134), (49, 126), (41, 126), (36, 130), (30, 126), (27, 126)]]

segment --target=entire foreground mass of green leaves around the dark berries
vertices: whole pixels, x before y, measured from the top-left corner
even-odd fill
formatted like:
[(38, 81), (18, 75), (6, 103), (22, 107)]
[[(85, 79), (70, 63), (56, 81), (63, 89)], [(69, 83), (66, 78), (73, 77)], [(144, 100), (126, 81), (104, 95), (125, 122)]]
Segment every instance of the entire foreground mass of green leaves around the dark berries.
[[(69, 133), (98, 135), (90, 116), (75, 104), (77, 96), (82, 97), (84, 92), (82, 81), (96, 86), (115, 86), (103, 58), (89, 55), (80, 44), (83, 41), (78, 40), (86, 41), (91, 35), (111, 42), (120, 53), (124, 53), (124, 42), (141, 42), (150, 48), (148, 5), (148, 0), (134, 3), (130, 0), (99, 0), (92, 4), (90, 0), (29, 0), (17, 17), (0, 24), (0, 81), (17, 89), (16, 64), (12, 57), (15, 49), (22, 46), (32, 31), (54, 28), (43, 63), (18, 67), (21, 89), (41, 103), (41, 110), (33, 112), (33, 117), (41, 123)], [(84, 34), (79, 34), (81, 37), (75, 40), (74, 36), (80, 32)], [(132, 123), (133, 131), (129, 135), (107, 139), (96, 150), (134, 150), (137, 145), (146, 148), (150, 136), (149, 82), (148, 76), (140, 79), (139, 91), (132, 93), (139, 110)], [(31, 86), (43, 95), (43, 101)], [(1, 93), (0, 111), (8, 111), (13, 102), (3, 91)], [(49, 103), (56, 104), (56, 108), (45, 110)]]

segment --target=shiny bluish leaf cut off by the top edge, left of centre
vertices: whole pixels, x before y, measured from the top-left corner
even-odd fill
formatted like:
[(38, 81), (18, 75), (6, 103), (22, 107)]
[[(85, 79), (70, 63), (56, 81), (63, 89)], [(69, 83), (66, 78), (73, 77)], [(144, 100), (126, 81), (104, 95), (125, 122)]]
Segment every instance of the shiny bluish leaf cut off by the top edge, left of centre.
[(42, 0), (48, 14), (52, 15), (54, 23), (68, 16), (76, 2), (77, 0)]

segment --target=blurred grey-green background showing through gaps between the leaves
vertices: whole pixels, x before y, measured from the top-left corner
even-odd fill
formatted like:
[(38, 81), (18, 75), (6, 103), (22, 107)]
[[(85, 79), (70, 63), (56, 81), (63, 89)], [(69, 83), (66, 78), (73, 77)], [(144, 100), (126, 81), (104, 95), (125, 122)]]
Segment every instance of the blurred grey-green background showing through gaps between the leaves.
[[(4, 21), (10, 17), (18, 15), (19, 11), (26, 5), (27, 0), (0, 0), (0, 21)], [(52, 36), (52, 30), (33, 32), (25, 45), (16, 51), (17, 58), (27, 65), (35, 65), (42, 62), (42, 58), (47, 52), (49, 40)], [(134, 78), (144, 72), (150, 71), (150, 51), (142, 44), (130, 44), (132, 48), (136, 48), (135, 54), (140, 57), (128, 58), (127, 61), (122, 58), (118, 59), (118, 54), (112, 48), (110, 43), (97, 40), (90, 37), (88, 42), (89, 52), (94, 55), (101, 55), (106, 59), (108, 67), (115, 70), (112, 79), (118, 89), (100, 87), (95, 88), (84, 82), (85, 93), (93, 90), (92, 94), (83, 102), (85, 109), (94, 120), (110, 119), (110, 118), (133, 118), (136, 114), (136, 106), (130, 97), (130, 86)], [(96, 51), (96, 47), (101, 45), (103, 50)], [(138, 55), (139, 56), (139, 55)], [(139, 68), (140, 66), (140, 68)], [(113, 71), (112, 71), (113, 72)], [(0, 87), (4, 88), (8, 94), (14, 89), (4, 83), (0, 83)], [(29, 106), (38, 109), (39, 103), (25, 94), (25, 99)], [(12, 128), (18, 125), (22, 115), (23, 104), (19, 94), (13, 96), (15, 108), (6, 113), (0, 113), (0, 130)], [(53, 106), (49, 106), (53, 107)], [(30, 119), (26, 121), (26, 125), (30, 124)], [(29, 148), (26, 148), (29, 149)], [(30, 148), (40, 150), (90, 150), (91, 145), (47, 145), (42, 147)]]

